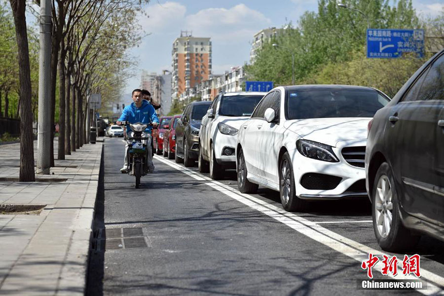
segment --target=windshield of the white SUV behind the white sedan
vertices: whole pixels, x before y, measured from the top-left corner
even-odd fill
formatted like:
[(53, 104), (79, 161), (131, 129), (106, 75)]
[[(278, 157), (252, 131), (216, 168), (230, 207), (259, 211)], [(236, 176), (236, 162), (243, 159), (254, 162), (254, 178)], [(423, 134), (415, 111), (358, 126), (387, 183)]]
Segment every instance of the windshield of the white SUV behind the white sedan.
[(250, 116), (262, 95), (225, 96), (221, 99), (219, 115), (223, 116)]

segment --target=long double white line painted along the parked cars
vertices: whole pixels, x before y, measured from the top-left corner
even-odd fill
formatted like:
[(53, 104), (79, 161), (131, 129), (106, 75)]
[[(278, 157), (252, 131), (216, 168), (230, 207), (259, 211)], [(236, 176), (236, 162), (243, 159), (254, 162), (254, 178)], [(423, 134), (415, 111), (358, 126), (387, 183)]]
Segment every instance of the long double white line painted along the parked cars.
[[(157, 158), (158, 159), (158, 158)], [(160, 160), (160, 159), (158, 159)], [(176, 169), (177, 165), (168, 161), (162, 159), (165, 164), (170, 165), (171, 167), (174, 167)], [(180, 168), (181, 170), (187, 171), (188, 173), (195, 175), (196, 177), (202, 176), (200, 173), (196, 173), (194, 171), (191, 171), (187, 168)], [(193, 177), (194, 178), (194, 177)], [(206, 176), (202, 176), (201, 178), (209, 179)], [(210, 179), (211, 180), (211, 179)], [(378, 258), (382, 259), (383, 255), (386, 255), (387, 257), (391, 258), (391, 255), (386, 254), (382, 251), (372, 249), (368, 246), (365, 246), (361, 243), (355, 242), (349, 238), (346, 238), (344, 236), (341, 236), (327, 228), (324, 228), (319, 225), (319, 222), (312, 222), (305, 218), (299, 217), (294, 213), (286, 212), (284, 209), (280, 207), (276, 207), (272, 204), (269, 204), (263, 200), (260, 200), (254, 196), (251, 196), (249, 194), (244, 194), (236, 191), (234, 188), (224, 185), (217, 181), (211, 181), (206, 183), (207, 185), (213, 187), (214, 189), (224, 193), (225, 195), (283, 223), (287, 226), (293, 228), (294, 230), (298, 231), (299, 233), (317, 241), (320, 242), (333, 250), (346, 255), (352, 259), (357, 260), (358, 262), (362, 262), (366, 259), (368, 259), (369, 253), (372, 253), (374, 256), (378, 256)], [(400, 269), (402, 269), (402, 260), (398, 262), (398, 266)], [(357, 268), (360, 269), (361, 267), (357, 265)], [(373, 268), (375, 268), (378, 271), (381, 271), (383, 268), (382, 261), (378, 261)], [(390, 277), (394, 279), (405, 279), (405, 280), (415, 280), (417, 279), (413, 275), (403, 275), (401, 273), (398, 273), (396, 277), (393, 275), (389, 275)], [(433, 272), (430, 272), (424, 268), (421, 268), (421, 280), (427, 281), (427, 290), (417, 290), (418, 292), (424, 294), (424, 295), (444, 295), (444, 290), (441, 287), (444, 287), (444, 278), (434, 274)]]

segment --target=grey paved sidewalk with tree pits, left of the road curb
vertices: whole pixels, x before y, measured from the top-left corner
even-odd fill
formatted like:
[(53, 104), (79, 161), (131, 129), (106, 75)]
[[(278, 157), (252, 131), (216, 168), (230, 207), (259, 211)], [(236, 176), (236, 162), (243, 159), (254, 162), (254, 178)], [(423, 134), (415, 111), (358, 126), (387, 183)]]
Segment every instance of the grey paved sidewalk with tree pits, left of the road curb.
[[(57, 157), (57, 139), (54, 148)], [(51, 175), (36, 175), (46, 182), (20, 183), (10, 181), (19, 176), (20, 144), (0, 146), (1, 295), (83, 295), (102, 148), (83, 145), (55, 160)], [(37, 163), (37, 141), (34, 149)], [(1, 215), (4, 204), (44, 208)]]

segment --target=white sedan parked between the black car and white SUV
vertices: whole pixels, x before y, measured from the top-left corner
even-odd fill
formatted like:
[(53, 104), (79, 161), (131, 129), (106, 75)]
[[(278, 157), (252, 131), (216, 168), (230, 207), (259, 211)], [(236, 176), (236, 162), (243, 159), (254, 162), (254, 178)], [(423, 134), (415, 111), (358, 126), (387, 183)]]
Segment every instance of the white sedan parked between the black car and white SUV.
[(279, 191), (287, 211), (303, 211), (307, 200), (367, 196), (367, 124), (389, 101), (362, 86), (274, 88), (239, 129), (239, 190)]

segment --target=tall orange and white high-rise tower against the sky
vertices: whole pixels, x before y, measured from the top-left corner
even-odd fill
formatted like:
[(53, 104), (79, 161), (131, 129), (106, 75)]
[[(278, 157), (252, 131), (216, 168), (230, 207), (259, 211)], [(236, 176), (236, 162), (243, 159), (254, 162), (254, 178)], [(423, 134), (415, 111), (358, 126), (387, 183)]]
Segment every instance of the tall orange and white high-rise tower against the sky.
[(179, 98), (211, 75), (211, 41), (208, 37), (193, 37), (182, 31), (173, 42), (172, 51), (172, 96)]

